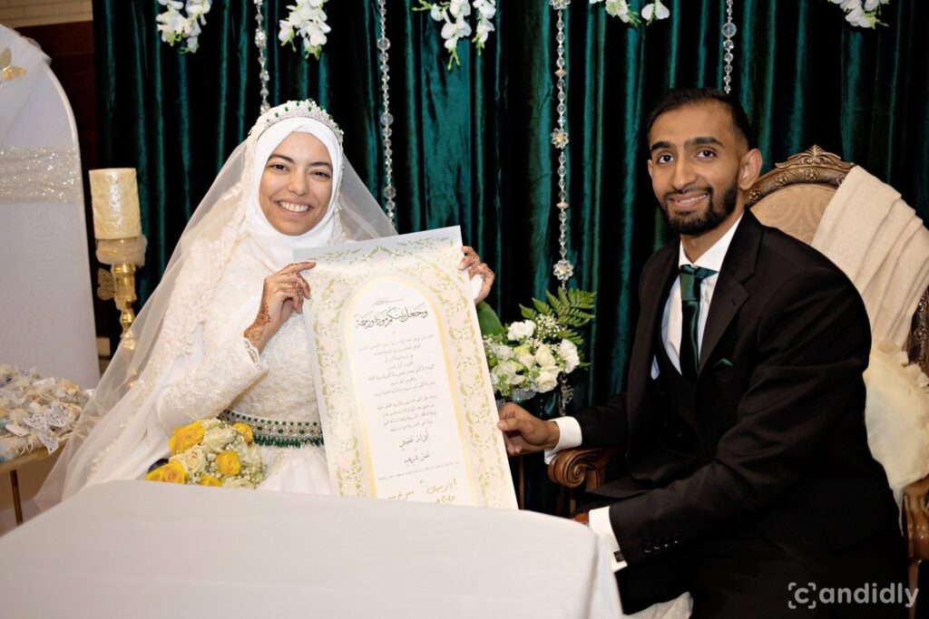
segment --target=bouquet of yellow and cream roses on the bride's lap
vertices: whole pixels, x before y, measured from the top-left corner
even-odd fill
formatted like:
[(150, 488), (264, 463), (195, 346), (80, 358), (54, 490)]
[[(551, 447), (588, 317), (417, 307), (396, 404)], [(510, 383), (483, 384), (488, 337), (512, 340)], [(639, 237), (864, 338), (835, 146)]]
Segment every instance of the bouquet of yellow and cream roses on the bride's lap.
[(261, 451), (245, 423), (201, 419), (179, 426), (168, 439), (168, 450), (171, 458), (145, 479), (227, 488), (255, 488), (265, 479)]

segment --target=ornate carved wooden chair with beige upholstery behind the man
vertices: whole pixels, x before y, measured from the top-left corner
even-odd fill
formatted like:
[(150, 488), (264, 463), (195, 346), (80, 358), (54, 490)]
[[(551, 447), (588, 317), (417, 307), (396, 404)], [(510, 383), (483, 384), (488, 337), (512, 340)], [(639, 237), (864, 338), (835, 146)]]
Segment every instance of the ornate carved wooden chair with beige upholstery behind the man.
[[(760, 177), (746, 194), (746, 204), (767, 226), (776, 226), (805, 243), (812, 241), (826, 205), (854, 163), (814, 146), (778, 163)], [(929, 289), (922, 294), (909, 330), (907, 354), (929, 374)], [(556, 484), (585, 490), (605, 481), (611, 452), (603, 449), (569, 449), (548, 467)], [(903, 493), (903, 526), (909, 550), (910, 587), (915, 587), (919, 561), (929, 559), (929, 477), (909, 484)], [(573, 510), (573, 503), (571, 505)]]

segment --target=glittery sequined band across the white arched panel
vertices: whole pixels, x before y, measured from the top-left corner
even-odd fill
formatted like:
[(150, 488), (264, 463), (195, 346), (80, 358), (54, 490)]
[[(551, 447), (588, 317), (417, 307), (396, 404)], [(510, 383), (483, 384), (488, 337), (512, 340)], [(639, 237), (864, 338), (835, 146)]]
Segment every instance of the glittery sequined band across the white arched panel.
[(0, 204), (83, 201), (76, 146), (0, 148)]

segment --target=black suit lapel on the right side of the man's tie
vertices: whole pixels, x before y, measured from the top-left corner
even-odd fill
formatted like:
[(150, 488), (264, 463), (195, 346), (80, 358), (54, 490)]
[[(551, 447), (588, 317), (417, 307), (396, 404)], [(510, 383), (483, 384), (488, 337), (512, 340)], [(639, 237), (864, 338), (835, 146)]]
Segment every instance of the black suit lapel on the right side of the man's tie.
[(749, 298), (743, 284), (754, 275), (763, 233), (764, 227), (750, 211), (746, 211), (726, 251), (723, 267), (716, 280), (716, 289), (713, 290), (713, 302), (710, 303), (710, 313), (706, 317), (703, 340), (700, 342), (701, 372), (729, 323)]

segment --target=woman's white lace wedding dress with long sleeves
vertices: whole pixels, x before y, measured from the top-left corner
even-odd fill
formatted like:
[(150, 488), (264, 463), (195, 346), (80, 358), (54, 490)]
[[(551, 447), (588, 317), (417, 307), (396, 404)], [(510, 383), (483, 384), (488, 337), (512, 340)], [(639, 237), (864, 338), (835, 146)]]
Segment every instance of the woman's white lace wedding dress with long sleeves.
[[(294, 313), (260, 356), (242, 336), (255, 319), (268, 275), (251, 242), (240, 241), (193, 342), (191, 357), (199, 362), (178, 360), (171, 371), (183, 375), (155, 396), (154, 414), (164, 432), (229, 409), (244, 416), (230, 420), (249, 422), (256, 435), (264, 428), (285, 437), (297, 432), (321, 437), (303, 316)], [(259, 489), (330, 494), (324, 447), (262, 445), (262, 457), (268, 477)]]

